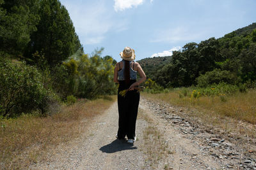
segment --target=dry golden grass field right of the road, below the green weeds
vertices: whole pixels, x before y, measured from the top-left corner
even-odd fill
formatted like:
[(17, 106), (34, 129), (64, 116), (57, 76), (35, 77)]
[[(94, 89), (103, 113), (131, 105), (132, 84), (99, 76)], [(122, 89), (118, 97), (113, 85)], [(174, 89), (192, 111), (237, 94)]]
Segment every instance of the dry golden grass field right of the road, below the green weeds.
[[(196, 90), (196, 92), (200, 92), (200, 90)], [(256, 124), (256, 89), (248, 90), (245, 93), (234, 92), (233, 94), (211, 96), (200, 94), (193, 96), (193, 88), (174, 89), (168, 93), (161, 94), (143, 93), (144, 96), (160, 99), (177, 106), (196, 108), (216, 115), (232, 117)]]

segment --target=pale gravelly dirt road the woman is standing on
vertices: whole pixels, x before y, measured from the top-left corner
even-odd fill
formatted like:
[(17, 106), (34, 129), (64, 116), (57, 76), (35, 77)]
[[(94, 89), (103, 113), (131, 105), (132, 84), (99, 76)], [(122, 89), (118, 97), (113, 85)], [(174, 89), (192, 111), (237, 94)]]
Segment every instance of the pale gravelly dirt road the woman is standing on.
[[(209, 153), (211, 148), (214, 150), (221, 146), (224, 143), (223, 140), (216, 138), (210, 146), (204, 145), (200, 138), (195, 137), (198, 133), (191, 134), (180, 129), (183, 127), (180, 121), (184, 122), (184, 119), (172, 117), (175, 121), (170, 122), (156, 114), (156, 111), (159, 111), (157, 107), (157, 104), (154, 106), (141, 98), (136, 123), (138, 141), (134, 145), (115, 138), (118, 130), (118, 110), (117, 103), (114, 103), (105, 113), (93, 118), (92, 122), (88, 123), (86, 120), (81, 122), (90, 125), (85, 134), (49, 151), (44, 161), (36, 162), (30, 166), (30, 169), (235, 169), (236, 162), (228, 159), (221, 161), (226, 158)], [(148, 122), (148, 119), (152, 121)], [(193, 127), (192, 124), (192, 122), (184, 122), (186, 128)], [(148, 127), (156, 129), (159, 132), (157, 136), (163, 138), (161, 142), (166, 148), (159, 147), (159, 153), (149, 154), (152, 149), (150, 147), (161, 144), (156, 144), (152, 136), (145, 138)], [(146, 141), (149, 145), (145, 144)], [(152, 143), (151, 146), (150, 143)], [(232, 144), (227, 143), (227, 145)], [(253, 164), (253, 160), (250, 164)], [(250, 169), (242, 164), (241, 169), (247, 168)]]

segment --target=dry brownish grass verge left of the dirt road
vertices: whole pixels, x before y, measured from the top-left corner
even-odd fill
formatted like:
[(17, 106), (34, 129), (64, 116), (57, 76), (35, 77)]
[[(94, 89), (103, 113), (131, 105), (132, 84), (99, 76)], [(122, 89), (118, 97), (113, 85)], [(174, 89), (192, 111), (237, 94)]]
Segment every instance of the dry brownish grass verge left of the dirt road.
[(0, 120), (0, 169), (28, 168), (47, 150), (86, 132), (86, 124), (81, 124), (81, 120), (90, 122), (90, 118), (104, 112), (113, 101), (113, 97), (79, 101), (72, 106), (64, 106), (60, 113), (51, 117), (24, 115)]

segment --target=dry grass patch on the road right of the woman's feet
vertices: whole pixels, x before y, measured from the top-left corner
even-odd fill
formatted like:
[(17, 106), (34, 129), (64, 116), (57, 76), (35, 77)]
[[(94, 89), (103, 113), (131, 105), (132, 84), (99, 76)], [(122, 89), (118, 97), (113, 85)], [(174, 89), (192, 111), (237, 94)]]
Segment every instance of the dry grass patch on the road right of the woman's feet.
[[(148, 117), (143, 110), (139, 110), (139, 118), (143, 118), (147, 121), (148, 126), (143, 131), (143, 150), (147, 155), (147, 162), (152, 169), (159, 169), (159, 162), (167, 158), (168, 154), (172, 154), (173, 151), (168, 146), (168, 143), (164, 142), (163, 133), (157, 129), (157, 125), (152, 118)], [(168, 169), (169, 165), (164, 164), (164, 169)]]

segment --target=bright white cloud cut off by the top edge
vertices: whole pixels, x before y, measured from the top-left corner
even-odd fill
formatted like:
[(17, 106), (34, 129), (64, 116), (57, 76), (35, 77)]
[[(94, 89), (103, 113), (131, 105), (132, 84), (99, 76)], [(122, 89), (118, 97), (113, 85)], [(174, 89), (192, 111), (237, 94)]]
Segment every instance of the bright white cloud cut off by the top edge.
[[(114, 0), (115, 11), (123, 11), (127, 8), (137, 7), (140, 4), (143, 4), (143, 0)], [(152, 0), (150, 0), (151, 2)]]

